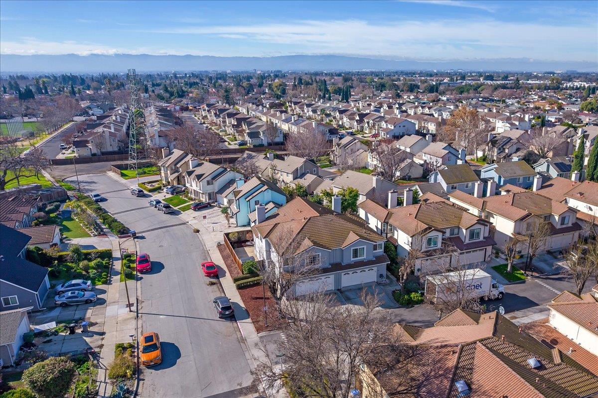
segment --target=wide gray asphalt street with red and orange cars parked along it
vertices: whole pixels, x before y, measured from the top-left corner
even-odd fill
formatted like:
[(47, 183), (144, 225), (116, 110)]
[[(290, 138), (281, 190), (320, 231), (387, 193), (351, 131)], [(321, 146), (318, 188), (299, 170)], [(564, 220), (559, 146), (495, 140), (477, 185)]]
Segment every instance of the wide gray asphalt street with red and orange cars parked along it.
[[(242, 338), (233, 319), (218, 319), (200, 263), (209, 260), (202, 240), (176, 215), (148, 206), (127, 185), (106, 174), (79, 177), (84, 192), (99, 192), (114, 217), (135, 229), (152, 271), (141, 276), (142, 332), (160, 335), (163, 362), (145, 369), (142, 397), (237, 397), (251, 382)], [(68, 179), (74, 183), (74, 179)], [(238, 303), (233, 307), (239, 308)]]

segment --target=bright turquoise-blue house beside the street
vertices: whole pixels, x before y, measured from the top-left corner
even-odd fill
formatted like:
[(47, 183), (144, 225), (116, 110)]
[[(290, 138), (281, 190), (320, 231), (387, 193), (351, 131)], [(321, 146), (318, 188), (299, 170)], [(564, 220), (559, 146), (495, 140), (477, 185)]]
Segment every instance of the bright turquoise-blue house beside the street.
[(286, 204), (286, 195), (282, 189), (259, 176), (252, 177), (249, 181), (236, 180), (231, 196), (230, 209), (237, 227), (255, 223), (255, 208), (259, 205), (265, 207), (266, 217), (269, 217)]

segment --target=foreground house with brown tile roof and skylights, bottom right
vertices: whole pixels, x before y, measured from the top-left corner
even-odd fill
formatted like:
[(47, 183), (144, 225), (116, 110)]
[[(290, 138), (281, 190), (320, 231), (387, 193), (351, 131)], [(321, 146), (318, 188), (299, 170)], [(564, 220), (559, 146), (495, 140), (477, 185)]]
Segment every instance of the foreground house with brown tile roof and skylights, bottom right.
[(598, 377), (576, 360), (578, 355), (524, 326), (499, 311), (462, 309), (428, 328), (396, 323), (393, 332), (402, 347), (380, 347), (379, 356), (361, 364), (355, 382), (359, 396), (581, 398), (598, 393)]

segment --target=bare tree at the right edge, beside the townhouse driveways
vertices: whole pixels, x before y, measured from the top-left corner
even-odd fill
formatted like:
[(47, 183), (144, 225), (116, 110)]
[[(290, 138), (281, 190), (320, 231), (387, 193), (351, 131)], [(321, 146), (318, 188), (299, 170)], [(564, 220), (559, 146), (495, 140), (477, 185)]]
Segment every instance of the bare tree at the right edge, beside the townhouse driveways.
[(569, 246), (563, 258), (566, 261), (563, 273), (573, 278), (575, 292), (580, 295), (588, 279), (598, 274), (598, 243), (575, 243)]

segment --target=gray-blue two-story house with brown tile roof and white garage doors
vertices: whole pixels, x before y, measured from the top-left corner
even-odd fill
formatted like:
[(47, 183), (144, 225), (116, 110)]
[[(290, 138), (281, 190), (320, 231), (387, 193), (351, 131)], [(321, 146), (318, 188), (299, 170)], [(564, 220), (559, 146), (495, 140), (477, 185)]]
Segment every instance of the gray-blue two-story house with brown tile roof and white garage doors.
[(292, 295), (386, 280), (385, 238), (358, 217), (340, 213), (340, 197), (333, 209), (295, 198), (269, 217), (260, 212), (254, 233), (255, 255), (267, 266), (285, 269), (286, 258), (302, 258), (317, 271), (295, 283)]

